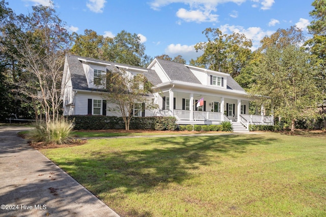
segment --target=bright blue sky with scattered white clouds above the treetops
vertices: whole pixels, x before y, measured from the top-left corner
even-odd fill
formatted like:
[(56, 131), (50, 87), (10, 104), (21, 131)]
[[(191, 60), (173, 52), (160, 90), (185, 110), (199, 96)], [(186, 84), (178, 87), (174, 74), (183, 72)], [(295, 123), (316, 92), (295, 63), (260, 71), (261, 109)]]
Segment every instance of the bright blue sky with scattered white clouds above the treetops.
[[(48, 0), (5, 0), (16, 14)], [(206, 41), (207, 27), (243, 33), (253, 50), (264, 36), (296, 25), (307, 33), (313, 0), (53, 0), (59, 17), (72, 33), (92, 29), (114, 37), (121, 30), (139, 34), (152, 57), (182, 55), (196, 59), (194, 45)], [(307, 37), (309, 37), (307, 33)]]

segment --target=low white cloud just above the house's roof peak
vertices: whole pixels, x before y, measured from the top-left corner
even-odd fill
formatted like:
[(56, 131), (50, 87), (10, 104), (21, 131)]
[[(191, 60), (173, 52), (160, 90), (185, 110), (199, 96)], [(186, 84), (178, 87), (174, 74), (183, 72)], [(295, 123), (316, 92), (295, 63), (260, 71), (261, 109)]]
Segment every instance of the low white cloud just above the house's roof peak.
[(170, 44), (166, 49), (165, 53), (170, 57), (175, 57), (181, 55), (187, 62), (191, 59), (196, 59), (198, 56), (202, 55), (202, 51), (196, 52), (195, 45), (181, 45), (181, 44)]

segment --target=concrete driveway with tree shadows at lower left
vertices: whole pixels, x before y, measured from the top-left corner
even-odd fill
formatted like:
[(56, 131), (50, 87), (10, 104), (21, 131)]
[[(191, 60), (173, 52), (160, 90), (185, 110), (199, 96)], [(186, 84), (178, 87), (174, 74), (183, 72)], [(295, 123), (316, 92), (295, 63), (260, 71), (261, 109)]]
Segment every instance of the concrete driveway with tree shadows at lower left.
[(0, 216), (119, 216), (67, 173), (0, 127)]

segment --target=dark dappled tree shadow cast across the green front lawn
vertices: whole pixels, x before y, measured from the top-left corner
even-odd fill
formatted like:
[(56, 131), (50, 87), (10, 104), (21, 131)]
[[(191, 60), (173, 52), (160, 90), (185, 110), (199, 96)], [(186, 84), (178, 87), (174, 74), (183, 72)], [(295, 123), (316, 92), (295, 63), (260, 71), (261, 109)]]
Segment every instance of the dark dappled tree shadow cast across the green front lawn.
[[(194, 171), (202, 165), (219, 164), (221, 156), (236, 158), (246, 153), (249, 145), (268, 145), (276, 139), (250, 135), (137, 138), (125, 140), (134, 142), (134, 148), (126, 150), (110, 146), (110, 142), (118, 140), (107, 140), (101, 149), (84, 148), (84, 152), (72, 148), (72, 152), (80, 153), (77, 158), (59, 159), (56, 163), (95, 195), (119, 201), (131, 192), (146, 193), (164, 189), (169, 183), (181, 184), (197, 176)], [(119, 214), (151, 216), (127, 210)]]

